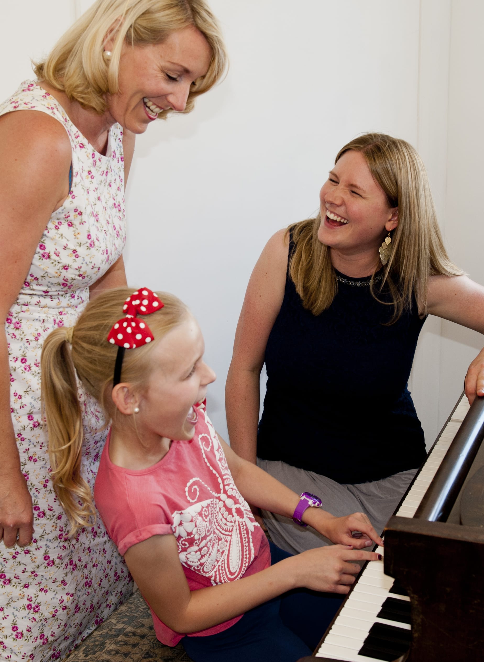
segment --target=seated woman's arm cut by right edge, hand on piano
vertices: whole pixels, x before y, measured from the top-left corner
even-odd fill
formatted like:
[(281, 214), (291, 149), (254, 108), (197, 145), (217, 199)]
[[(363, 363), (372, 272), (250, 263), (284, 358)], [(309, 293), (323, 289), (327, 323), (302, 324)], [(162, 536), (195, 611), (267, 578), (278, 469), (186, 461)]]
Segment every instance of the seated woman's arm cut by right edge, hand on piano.
[[(428, 285), (428, 312), (484, 334), (484, 287), (467, 276), (432, 276)], [(465, 375), (469, 402), (484, 395), (484, 349)]]

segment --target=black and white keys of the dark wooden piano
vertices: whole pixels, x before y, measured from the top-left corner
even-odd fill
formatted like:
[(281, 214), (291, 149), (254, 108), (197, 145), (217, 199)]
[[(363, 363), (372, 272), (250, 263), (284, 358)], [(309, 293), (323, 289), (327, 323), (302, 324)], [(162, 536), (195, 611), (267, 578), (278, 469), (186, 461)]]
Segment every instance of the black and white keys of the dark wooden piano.
[[(464, 395), (395, 515), (414, 516), (468, 411), (469, 402)], [(382, 555), (385, 553), (383, 547), (377, 547), (375, 551)], [(383, 561), (368, 561), (343, 602), (316, 657), (345, 662), (393, 662), (410, 647), (410, 623), (410, 598), (393, 577), (383, 573)]]

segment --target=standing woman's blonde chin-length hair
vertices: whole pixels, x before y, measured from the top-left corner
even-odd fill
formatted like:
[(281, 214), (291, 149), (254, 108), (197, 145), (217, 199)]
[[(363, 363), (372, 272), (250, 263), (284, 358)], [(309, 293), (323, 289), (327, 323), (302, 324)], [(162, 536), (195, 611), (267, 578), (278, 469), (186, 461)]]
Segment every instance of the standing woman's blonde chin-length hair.
[[(195, 81), (184, 113), (193, 110), (197, 96), (222, 77), (227, 56), (217, 19), (205, 0), (97, 0), (58, 40), (46, 60), (34, 71), (71, 101), (92, 108), (100, 115), (107, 109), (106, 95), (119, 91), (119, 60), (124, 43), (133, 46), (161, 44), (169, 34), (193, 26), (212, 49), (206, 75)], [(115, 33), (109, 60), (103, 58), (104, 43)], [(160, 118), (173, 111), (163, 111)]]

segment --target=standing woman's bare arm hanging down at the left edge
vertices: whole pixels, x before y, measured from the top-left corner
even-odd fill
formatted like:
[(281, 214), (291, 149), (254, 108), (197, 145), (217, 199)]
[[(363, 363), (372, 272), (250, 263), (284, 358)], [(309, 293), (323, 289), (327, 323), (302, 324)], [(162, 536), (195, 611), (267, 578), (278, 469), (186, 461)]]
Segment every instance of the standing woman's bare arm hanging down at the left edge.
[(32, 540), (32, 500), (21, 473), (10, 413), (5, 318), (23, 286), (40, 237), (69, 193), (66, 130), (52, 117), (19, 111), (0, 117), (0, 539)]

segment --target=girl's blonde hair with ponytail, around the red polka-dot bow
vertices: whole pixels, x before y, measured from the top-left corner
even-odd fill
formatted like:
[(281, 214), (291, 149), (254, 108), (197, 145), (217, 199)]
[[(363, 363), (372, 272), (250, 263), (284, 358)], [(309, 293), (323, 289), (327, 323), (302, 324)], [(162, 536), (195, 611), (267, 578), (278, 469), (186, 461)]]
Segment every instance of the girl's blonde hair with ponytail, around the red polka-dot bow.
[[(70, 522), (70, 535), (89, 524), (95, 506), (89, 485), (81, 476), (83, 427), (77, 380), (100, 404), (106, 420), (132, 425), (111, 399), (117, 345), (107, 342), (113, 324), (122, 316), (124, 301), (134, 293), (127, 287), (107, 290), (89, 303), (73, 328), (57, 328), (42, 348), (42, 407), (47, 423), (48, 449), (54, 490)], [(150, 354), (168, 331), (188, 316), (185, 305), (173, 295), (159, 293), (164, 308), (146, 319), (154, 341), (127, 350), (122, 361), (122, 381), (143, 388), (151, 369)]]

